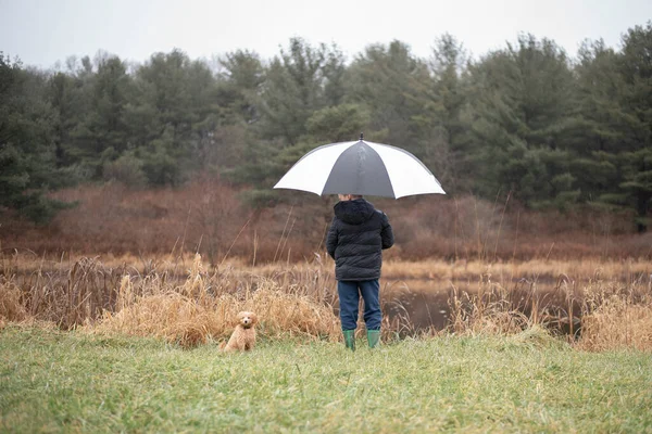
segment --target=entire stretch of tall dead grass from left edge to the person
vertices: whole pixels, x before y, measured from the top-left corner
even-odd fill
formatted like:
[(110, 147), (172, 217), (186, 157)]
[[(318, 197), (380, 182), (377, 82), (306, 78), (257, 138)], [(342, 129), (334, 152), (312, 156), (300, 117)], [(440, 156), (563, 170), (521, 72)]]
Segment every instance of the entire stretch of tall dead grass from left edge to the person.
[(209, 272), (197, 254), (179, 280), (147, 263), (108, 267), (83, 257), (70, 269), (3, 261), (0, 320), (50, 321), (62, 329), (156, 336), (183, 346), (227, 337), (240, 310), (253, 310), (263, 336), (339, 339), (333, 280), (321, 268), (261, 277), (233, 266)]

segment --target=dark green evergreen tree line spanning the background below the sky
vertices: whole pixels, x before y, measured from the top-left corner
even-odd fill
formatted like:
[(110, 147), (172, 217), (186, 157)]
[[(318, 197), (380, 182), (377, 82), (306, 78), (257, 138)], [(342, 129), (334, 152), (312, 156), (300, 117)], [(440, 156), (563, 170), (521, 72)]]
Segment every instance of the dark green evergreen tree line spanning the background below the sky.
[(99, 52), (43, 71), (0, 52), (0, 207), (37, 221), (67, 206), (48, 199), (57, 188), (178, 186), (205, 171), (269, 205), (301, 155), (360, 131), (415, 154), (451, 194), (625, 208), (644, 231), (652, 22), (618, 49), (585, 41), (574, 59), (531, 35), (471, 59), (448, 34), (428, 59), (394, 40), (347, 60), (301, 38), (271, 60), (237, 50), (215, 64), (180, 50), (142, 64)]

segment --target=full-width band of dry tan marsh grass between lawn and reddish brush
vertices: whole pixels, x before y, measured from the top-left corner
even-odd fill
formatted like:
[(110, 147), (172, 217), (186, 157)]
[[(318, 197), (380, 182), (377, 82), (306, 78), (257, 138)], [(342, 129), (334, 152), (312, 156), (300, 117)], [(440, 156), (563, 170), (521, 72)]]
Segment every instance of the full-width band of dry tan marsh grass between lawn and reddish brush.
[[(333, 263), (323, 257), (256, 267), (237, 258), (214, 266), (200, 255), (55, 261), (14, 253), (0, 259), (2, 323), (83, 327), (192, 346), (228, 337), (237, 312), (253, 310), (262, 339), (341, 339)], [(521, 335), (544, 328), (587, 350), (649, 350), (650, 269), (643, 260), (388, 261), (384, 339), (442, 332)], [(448, 299), (447, 312), (440, 312), (446, 322), (416, 327), (414, 312), (430, 315), (432, 296), (444, 305)]]

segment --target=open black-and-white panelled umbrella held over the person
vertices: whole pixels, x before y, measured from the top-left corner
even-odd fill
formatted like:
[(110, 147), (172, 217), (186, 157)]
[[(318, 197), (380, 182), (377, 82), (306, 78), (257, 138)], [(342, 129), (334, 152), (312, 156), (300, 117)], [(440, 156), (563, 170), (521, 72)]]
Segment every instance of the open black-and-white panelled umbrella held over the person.
[(315, 194), (363, 194), (399, 199), (446, 194), (432, 173), (414, 155), (389, 144), (330, 143), (305, 154), (274, 186)]

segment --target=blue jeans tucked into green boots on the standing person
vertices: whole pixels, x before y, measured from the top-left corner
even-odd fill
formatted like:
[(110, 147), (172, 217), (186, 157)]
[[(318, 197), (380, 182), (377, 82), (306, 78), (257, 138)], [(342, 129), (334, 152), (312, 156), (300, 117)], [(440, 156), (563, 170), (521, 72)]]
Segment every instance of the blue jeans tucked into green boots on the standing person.
[(337, 292), (340, 298), (340, 320), (342, 330), (355, 330), (360, 295), (364, 299), (364, 323), (367, 330), (380, 330), (383, 314), (379, 302), (378, 279), (343, 281), (338, 280)]

